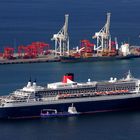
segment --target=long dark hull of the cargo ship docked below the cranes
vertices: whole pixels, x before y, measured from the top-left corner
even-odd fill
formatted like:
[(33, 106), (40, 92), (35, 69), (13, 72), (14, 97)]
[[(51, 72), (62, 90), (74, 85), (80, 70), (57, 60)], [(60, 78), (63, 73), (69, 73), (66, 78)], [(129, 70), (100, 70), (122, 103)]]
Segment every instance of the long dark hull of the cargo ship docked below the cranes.
[(74, 57), (74, 56), (61, 56), (61, 62), (97, 62), (97, 61), (113, 61), (124, 60), (140, 57), (139, 55), (127, 56), (94, 56), (94, 57)]

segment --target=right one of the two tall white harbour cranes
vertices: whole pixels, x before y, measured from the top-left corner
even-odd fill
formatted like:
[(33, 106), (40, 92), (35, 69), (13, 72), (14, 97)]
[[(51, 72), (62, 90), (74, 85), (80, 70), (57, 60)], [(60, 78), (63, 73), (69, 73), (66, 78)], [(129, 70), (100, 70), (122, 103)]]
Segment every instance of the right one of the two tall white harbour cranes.
[(106, 48), (109, 48), (109, 42), (111, 40), (110, 36), (110, 16), (111, 13), (107, 13), (107, 21), (104, 27), (99, 31), (96, 32), (95, 35), (92, 37), (93, 39), (97, 39), (96, 46), (94, 50), (101, 50), (103, 51)]

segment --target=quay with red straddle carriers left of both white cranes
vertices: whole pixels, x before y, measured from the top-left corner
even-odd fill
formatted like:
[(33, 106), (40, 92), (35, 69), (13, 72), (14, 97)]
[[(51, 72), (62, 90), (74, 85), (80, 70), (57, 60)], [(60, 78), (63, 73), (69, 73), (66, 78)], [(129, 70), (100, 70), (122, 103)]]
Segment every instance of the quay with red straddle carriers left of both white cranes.
[(4, 52), (0, 54), (0, 64), (18, 64), (18, 63), (41, 63), (58, 62), (59, 57), (54, 55), (49, 44), (44, 42), (33, 42), (28, 46), (19, 46), (18, 52), (14, 48), (5, 47)]

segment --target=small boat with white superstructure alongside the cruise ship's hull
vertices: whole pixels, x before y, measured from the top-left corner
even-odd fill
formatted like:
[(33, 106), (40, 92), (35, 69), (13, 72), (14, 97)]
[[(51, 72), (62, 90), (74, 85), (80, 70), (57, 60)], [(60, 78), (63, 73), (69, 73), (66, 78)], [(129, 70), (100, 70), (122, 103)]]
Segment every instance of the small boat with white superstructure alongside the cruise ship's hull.
[(76, 107), (73, 105), (68, 107), (67, 112), (58, 112), (56, 109), (42, 109), (41, 118), (50, 118), (50, 117), (65, 117), (65, 116), (75, 116), (80, 113), (77, 112)]

